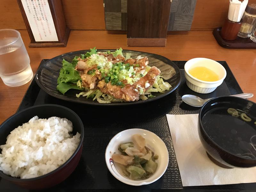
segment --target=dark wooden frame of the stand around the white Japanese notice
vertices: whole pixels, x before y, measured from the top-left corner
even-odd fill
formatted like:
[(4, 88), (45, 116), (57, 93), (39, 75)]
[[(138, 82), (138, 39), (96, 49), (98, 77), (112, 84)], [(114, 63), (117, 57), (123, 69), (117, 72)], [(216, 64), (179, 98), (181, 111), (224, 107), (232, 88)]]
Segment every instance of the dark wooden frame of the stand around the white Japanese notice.
[(67, 28), (67, 26), (66, 26), (64, 13), (63, 13), (63, 9), (62, 9), (60, 0), (48, 0), (50, 10), (52, 13), (52, 19), (54, 22), (54, 26), (55, 26), (59, 41), (42, 41), (42, 42), (35, 41), (35, 38), (33, 36), (32, 30), (30, 28), (28, 18), (24, 11), (21, 0), (17, 0), (17, 1), (18, 1), (20, 11), (21, 11), (23, 20), (26, 24), (28, 34), (29, 34), (29, 37), (31, 40), (29, 47), (66, 47), (67, 46), (70, 29)]

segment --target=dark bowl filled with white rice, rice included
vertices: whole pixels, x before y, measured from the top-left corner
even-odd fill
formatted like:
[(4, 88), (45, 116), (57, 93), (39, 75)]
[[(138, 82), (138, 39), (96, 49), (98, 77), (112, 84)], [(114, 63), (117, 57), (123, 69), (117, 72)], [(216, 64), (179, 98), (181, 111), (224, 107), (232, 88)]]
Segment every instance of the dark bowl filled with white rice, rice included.
[(37, 105), (0, 125), (0, 177), (29, 189), (65, 180), (82, 154), (84, 126), (71, 109)]

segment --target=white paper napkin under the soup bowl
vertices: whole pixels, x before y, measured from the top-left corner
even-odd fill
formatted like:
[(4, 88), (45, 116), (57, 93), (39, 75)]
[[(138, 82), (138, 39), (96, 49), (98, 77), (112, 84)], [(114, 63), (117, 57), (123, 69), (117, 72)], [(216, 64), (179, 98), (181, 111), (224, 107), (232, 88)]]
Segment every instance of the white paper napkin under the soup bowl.
[(198, 114), (166, 117), (184, 187), (256, 182), (256, 167), (225, 169), (212, 163), (198, 136)]

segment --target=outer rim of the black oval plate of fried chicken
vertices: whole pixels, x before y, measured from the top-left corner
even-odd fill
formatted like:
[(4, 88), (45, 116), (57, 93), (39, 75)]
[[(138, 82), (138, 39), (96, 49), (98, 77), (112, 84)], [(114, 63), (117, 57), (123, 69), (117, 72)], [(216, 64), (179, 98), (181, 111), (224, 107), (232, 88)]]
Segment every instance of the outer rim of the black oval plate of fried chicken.
[[(104, 52), (104, 51), (116, 51), (116, 49), (98, 49), (97, 51), (100, 51), (100, 52)], [(67, 52), (67, 53), (63, 53), (61, 55), (57, 55), (51, 59), (48, 59), (47, 61), (49, 60), (53, 60), (59, 56), (62, 56), (64, 57), (65, 55), (68, 55), (70, 53), (74, 53), (74, 52), (81, 52), (81, 51), (90, 51), (90, 50), (78, 50), (78, 51), (72, 51), (72, 52)], [(128, 49), (123, 49), (123, 51), (131, 51), (131, 52), (141, 52), (141, 53), (149, 53), (149, 52), (142, 52), (142, 51), (134, 51), (134, 50), (128, 50)], [(36, 70), (36, 73), (35, 73), (35, 80), (36, 80), (36, 84), (40, 87), (40, 89), (42, 89), (44, 92), (46, 92), (48, 95), (52, 96), (52, 97), (55, 97), (57, 99), (60, 99), (60, 100), (65, 100), (65, 101), (69, 101), (69, 102), (74, 102), (74, 103), (81, 103), (81, 104), (87, 104), (87, 105), (96, 105), (96, 106), (124, 106), (124, 105), (135, 105), (135, 104), (143, 104), (143, 103), (148, 103), (148, 102), (151, 102), (151, 101), (155, 101), (155, 100), (158, 100), (158, 99), (161, 99), (165, 96), (167, 96), (168, 94), (172, 93), (173, 91), (175, 91), (178, 86), (180, 85), (181, 83), (181, 72), (180, 72), (180, 68), (170, 59), (162, 56), (162, 55), (158, 55), (158, 54), (155, 54), (155, 53), (149, 53), (149, 54), (152, 54), (152, 55), (156, 55), (156, 56), (160, 56), (166, 60), (169, 60), (170, 62), (172, 62), (172, 64), (177, 68), (179, 69), (179, 71), (176, 71), (176, 74), (175, 75), (179, 75), (179, 82), (174, 86), (172, 87), (172, 89), (167, 92), (164, 92), (163, 94), (159, 95), (159, 96), (156, 96), (156, 97), (153, 97), (153, 98), (150, 98), (148, 100), (138, 100), (138, 101), (133, 101), (133, 102), (112, 102), (112, 103), (99, 103), (99, 102), (92, 102), (92, 101), (87, 101), (87, 100), (74, 100), (72, 98), (66, 98), (66, 97), (62, 97), (62, 95), (54, 95), (52, 94), (52, 92), (48, 91), (39, 81), (38, 79), (38, 75), (41, 76), (41, 74), (38, 74), (38, 72), (40, 71), (40, 69), (42, 68), (42, 66), (44, 65), (45, 61), (43, 64), (39, 65), (37, 70)], [(166, 63), (167, 65), (170, 65), (168, 63)], [(173, 66), (172, 66), (173, 67)], [(175, 70), (176, 70), (175, 68)], [(179, 72), (179, 73), (177, 73)]]

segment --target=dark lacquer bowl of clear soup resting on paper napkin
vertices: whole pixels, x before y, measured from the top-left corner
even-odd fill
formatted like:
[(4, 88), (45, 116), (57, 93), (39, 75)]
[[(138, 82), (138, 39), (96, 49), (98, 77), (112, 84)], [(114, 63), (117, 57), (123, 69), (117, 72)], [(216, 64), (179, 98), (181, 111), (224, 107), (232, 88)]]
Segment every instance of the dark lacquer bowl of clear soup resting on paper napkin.
[(231, 96), (209, 100), (199, 113), (198, 133), (215, 164), (256, 166), (256, 103)]

